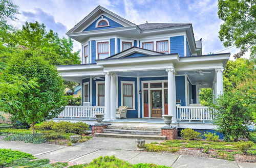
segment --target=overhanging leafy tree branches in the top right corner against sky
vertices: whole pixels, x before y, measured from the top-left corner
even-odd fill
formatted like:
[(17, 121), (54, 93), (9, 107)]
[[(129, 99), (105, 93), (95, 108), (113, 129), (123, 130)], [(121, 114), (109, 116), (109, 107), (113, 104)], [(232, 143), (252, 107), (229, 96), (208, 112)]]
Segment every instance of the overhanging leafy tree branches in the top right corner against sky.
[[(219, 0), (218, 16), (224, 21), (220, 26), (219, 38), (225, 47), (235, 45), (241, 53), (250, 48), (251, 58), (256, 57), (256, 1)], [(236, 57), (241, 57), (237, 54)]]

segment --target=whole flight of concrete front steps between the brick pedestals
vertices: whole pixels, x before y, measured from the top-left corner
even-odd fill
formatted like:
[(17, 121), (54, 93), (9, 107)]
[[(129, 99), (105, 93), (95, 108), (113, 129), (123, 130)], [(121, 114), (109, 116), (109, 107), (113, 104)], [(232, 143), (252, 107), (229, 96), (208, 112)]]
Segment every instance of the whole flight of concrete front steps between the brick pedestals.
[(153, 139), (153, 140), (165, 140), (166, 139), (166, 136), (161, 136), (161, 128), (159, 128), (159, 127), (143, 127), (143, 126), (108, 125), (105, 129), (103, 129), (102, 133), (95, 133), (94, 136)]

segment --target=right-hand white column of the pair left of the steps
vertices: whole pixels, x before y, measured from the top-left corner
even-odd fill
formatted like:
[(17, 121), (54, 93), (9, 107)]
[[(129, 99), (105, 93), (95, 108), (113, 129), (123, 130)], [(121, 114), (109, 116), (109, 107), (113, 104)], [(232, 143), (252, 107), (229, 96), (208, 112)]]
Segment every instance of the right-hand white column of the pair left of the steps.
[(111, 73), (110, 78), (110, 118), (116, 119), (116, 74)]

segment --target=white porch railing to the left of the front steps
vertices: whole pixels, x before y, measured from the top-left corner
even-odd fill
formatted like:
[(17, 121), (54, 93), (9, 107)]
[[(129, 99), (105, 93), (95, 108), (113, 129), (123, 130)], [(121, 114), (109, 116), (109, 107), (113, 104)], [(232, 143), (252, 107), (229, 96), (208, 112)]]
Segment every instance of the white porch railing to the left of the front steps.
[(95, 114), (105, 114), (105, 106), (66, 106), (58, 117), (95, 118)]

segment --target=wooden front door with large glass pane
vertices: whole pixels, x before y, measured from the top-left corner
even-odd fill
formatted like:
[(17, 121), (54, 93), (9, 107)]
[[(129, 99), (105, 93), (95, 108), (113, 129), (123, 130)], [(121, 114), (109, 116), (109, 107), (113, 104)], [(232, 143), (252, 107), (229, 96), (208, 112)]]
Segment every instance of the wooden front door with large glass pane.
[(151, 91), (151, 117), (162, 117), (162, 90)]

